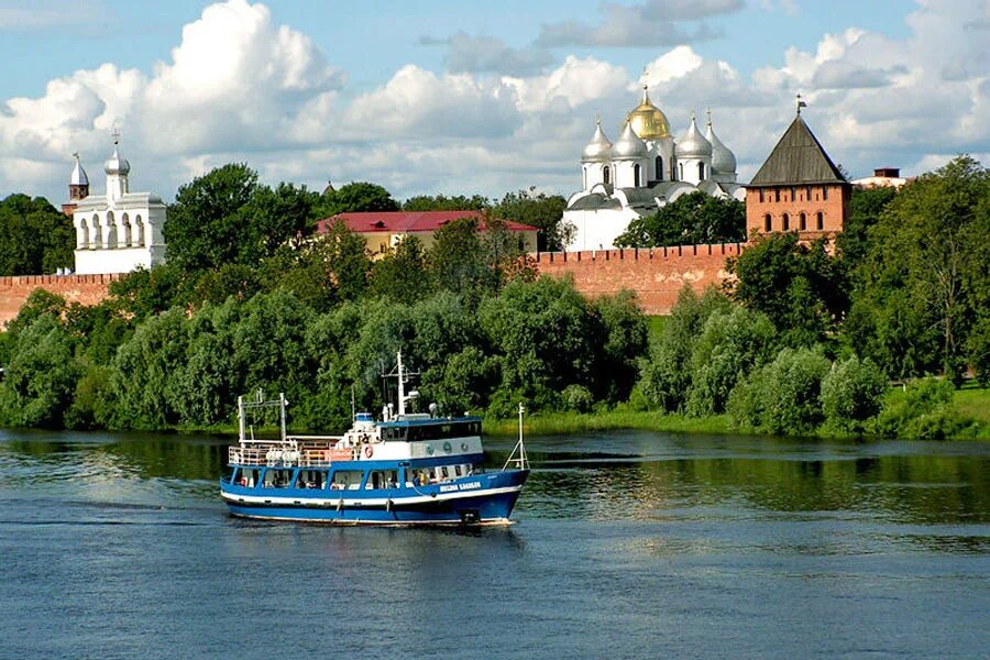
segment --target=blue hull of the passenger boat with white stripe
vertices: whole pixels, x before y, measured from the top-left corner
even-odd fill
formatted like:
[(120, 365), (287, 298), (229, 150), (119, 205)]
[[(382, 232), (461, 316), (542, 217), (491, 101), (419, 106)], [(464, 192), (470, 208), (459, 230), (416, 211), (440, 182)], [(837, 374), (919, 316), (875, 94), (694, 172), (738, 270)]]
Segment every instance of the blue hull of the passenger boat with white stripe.
[(528, 470), (388, 492), (258, 488), (221, 481), (234, 516), (336, 525), (508, 524)]

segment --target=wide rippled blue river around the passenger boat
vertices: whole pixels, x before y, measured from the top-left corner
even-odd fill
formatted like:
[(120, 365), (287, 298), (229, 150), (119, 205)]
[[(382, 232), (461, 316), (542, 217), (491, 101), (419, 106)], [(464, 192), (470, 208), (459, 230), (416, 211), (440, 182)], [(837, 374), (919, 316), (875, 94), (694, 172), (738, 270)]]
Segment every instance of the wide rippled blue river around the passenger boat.
[(0, 431), (0, 656), (987, 657), (990, 444), (527, 444), (517, 524), (444, 531), (231, 518), (223, 439)]

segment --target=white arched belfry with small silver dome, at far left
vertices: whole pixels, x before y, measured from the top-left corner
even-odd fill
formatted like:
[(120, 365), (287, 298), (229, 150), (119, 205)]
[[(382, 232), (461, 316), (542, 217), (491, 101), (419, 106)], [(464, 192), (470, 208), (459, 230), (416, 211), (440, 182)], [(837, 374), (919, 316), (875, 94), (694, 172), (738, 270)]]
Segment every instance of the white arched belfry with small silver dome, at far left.
[(131, 164), (120, 156), (118, 136), (107, 161), (106, 195), (89, 194), (89, 177), (75, 154), (69, 204), (76, 229), (76, 273), (129, 273), (165, 263), (165, 204), (151, 193), (131, 193)]

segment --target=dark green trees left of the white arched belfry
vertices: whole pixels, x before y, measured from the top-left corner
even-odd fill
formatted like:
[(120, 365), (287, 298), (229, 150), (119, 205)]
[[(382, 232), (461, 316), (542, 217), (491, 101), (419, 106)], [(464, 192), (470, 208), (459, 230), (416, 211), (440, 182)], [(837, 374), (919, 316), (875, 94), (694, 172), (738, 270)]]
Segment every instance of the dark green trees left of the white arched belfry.
[(0, 200), (0, 275), (37, 275), (73, 266), (72, 218), (43, 197)]

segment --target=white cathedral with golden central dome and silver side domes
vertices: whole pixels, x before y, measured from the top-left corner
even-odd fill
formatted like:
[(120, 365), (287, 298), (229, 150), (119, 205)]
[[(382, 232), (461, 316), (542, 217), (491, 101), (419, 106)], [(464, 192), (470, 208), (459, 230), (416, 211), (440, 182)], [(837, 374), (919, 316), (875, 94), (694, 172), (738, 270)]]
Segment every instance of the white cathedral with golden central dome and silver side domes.
[(745, 200), (736, 183), (736, 156), (715, 135), (711, 112), (702, 135), (694, 113), (688, 132), (674, 142), (667, 116), (642, 101), (626, 116), (613, 144), (597, 120), (595, 134), (581, 153), (582, 189), (571, 195), (563, 221), (575, 228), (568, 250), (610, 250), (636, 218), (654, 213), (678, 197), (702, 190)]

